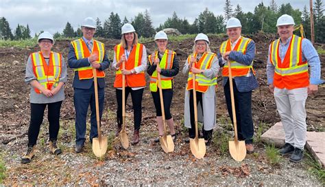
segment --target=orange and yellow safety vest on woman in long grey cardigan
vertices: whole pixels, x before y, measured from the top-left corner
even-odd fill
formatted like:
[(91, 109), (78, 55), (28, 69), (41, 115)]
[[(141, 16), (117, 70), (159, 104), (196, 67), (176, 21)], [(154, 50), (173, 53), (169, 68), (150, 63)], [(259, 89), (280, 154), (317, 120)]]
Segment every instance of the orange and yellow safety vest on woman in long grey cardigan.
[[(194, 59), (196, 59), (197, 53), (193, 54)], [(215, 53), (204, 53), (199, 61), (195, 63), (195, 68), (200, 70), (206, 70), (211, 67), (213, 58), (215, 58)], [(187, 63), (190, 63), (191, 55), (187, 57)], [(205, 93), (208, 87), (211, 85), (217, 85), (217, 76), (215, 78), (207, 78), (203, 74), (195, 74), (195, 89)], [(189, 77), (187, 78), (187, 90), (193, 89), (193, 73), (189, 71)]]

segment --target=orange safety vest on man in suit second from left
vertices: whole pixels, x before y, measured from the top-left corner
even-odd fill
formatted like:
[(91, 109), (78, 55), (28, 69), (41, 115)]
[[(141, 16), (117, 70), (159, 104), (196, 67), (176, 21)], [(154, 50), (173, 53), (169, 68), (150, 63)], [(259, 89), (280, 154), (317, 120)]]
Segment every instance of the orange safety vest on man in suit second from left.
[[(93, 53), (98, 53), (98, 59), (97, 59), (98, 63), (101, 63), (104, 59), (104, 54), (105, 54), (104, 44), (98, 42), (97, 40), (93, 40), (93, 48), (91, 50), (91, 53), (89, 52), (88, 47), (82, 38), (78, 40), (74, 40), (73, 42), (71, 42), (71, 44), (75, 49), (75, 57), (77, 57), (77, 59), (88, 58)], [(91, 65), (82, 68), (74, 68), (73, 70), (75, 72), (78, 72), (80, 80), (90, 79), (94, 77), (93, 67), (91, 67)], [(97, 71), (97, 77), (99, 78), (105, 77), (104, 71), (99, 71), (98, 69), (96, 69), (96, 71)]]

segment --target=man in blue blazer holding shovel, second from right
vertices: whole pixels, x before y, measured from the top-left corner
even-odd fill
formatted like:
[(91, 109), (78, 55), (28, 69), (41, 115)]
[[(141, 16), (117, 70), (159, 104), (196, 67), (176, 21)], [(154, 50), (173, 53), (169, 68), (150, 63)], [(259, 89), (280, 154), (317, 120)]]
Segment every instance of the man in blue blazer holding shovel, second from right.
[(230, 84), (228, 79), (228, 61), (232, 71), (234, 106), (236, 109), (237, 129), (239, 141), (245, 141), (248, 154), (254, 152), (252, 119), (252, 90), (258, 87), (253, 68), (255, 57), (255, 43), (250, 38), (241, 36), (241, 22), (237, 18), (230, 18), (226, 25), (229, 40), (220, 46), (219, 65), (224, 66), (224, 93), (228, 113), (232, 120), (232, 107), (230, 99)]

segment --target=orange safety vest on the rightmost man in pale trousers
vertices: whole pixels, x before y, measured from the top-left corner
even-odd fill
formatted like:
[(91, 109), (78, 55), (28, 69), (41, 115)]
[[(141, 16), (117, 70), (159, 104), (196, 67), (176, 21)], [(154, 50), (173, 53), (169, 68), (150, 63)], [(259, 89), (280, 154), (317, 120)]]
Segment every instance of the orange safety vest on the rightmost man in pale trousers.
[(295, 89), (309, 85), (307, 61), (302, 61), (302, 38), (292, 35), (285, 59), (279, 53), (280, 39), (271, 43), (269, 59), (274, 71), (274, 86), (280, 89)]

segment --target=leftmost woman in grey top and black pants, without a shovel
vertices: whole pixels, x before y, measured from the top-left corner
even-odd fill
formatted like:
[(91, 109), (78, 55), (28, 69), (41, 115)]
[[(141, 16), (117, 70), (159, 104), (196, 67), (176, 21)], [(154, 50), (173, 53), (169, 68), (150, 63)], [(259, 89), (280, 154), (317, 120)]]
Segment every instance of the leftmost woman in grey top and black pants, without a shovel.
[(64, 100), (64, 83), (67, 82), (67, 66), (60, 53), (51, 51), (53, 44), (51, 33), (41, 33), (38, 36), (40, 51), (30, 54), (27, 60), (25, 82), (32, 86), (29, 94), (31, 116), (27, 152), (21, 158), (23, 164), (31, 162), (34, 157), (46, 107), (49, 120), (49, 151), (54, 155), (61, 154), (57, 140), (60, 109)]

